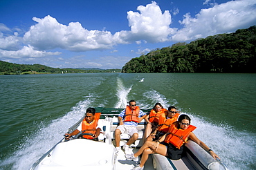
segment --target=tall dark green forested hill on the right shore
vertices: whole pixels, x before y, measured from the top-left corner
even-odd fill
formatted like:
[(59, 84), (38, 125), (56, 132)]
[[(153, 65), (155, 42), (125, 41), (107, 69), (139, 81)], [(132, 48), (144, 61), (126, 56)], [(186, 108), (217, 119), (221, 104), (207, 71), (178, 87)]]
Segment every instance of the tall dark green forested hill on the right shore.
[(152, 50), (122, 73), (256, 73), (256, 26)]

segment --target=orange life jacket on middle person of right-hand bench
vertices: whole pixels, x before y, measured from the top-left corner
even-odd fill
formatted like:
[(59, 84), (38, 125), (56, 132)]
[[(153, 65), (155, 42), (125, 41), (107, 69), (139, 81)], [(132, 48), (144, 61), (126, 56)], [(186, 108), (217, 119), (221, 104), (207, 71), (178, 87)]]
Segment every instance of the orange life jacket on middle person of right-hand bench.
[(158, 125), (158, 131), (161, 131), (163, 133), (167, 133), (169, 127), (172, 125), (173, 122), (176, 122), (179, 117), (179, 113), (176, 113), (174, 117), (170, 119), (166, 119), (165, 116), (159, 117), (159, 125)]

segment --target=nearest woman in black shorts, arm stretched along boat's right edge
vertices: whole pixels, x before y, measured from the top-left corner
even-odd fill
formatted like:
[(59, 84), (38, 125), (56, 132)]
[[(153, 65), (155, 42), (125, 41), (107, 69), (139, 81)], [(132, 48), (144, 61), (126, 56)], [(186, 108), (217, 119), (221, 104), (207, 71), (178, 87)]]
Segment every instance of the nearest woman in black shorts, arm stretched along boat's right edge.
[[(196, 129), (195, 126), (190, 125), (190, 117), (188, 115), (180, 115), (179, 120), (174, 122), (170, 126), (169, 131), (163, 135), (159, 140), (146, 141), (145, 144), (136, 153), (125, 155), (127, 160), (138, 161), (138, 156), (142, 155), (140, 164), (135, 167), (134, 170), (141, 170), (144, 167), (149, 154), (159, 153), (165, 155), (172, 160), (179, 160), (183, 153), (183, 147), (187, 140), (193, 140), (196, 144), (199, 144), (205, 151), (208, 151), (214, 159), (219, 156), (212, 151), (205, 143), (196, 138), (196, 135), (192, 133)], [(181, 133), (183, 136), (181, 136)]]

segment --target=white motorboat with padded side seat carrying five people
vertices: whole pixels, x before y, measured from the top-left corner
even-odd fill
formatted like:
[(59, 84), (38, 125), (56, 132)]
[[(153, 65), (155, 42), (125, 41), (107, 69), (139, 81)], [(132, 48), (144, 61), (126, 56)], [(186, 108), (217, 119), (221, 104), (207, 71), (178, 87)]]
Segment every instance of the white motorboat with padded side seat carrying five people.
[[(95, 108), (100, 113), (103, 130), (98, 141), (80, 138), (81, 133), (75, 135), (71, 140), (62, 138), (42, 158), (39, 158), (30, 170), (58, 170), (58, 169), (99, 169), (99, 170), (130, 170), (139, 162), (127, 160), (124, 151), (116, 152), (114, 131), (118, 126), (118, 115), (123, 108)], [(148, 113), (151, 109), (141, 109)], [(67, 133), (72, 133), (80, 125), (84, 117), (71, 126)], [(143, 120), (144, 121), (144, 120)], [(138, 124), (139, 137), (131, 144), (129, 152), (136, 153), (143, 145), (143, 134), (146, 122)], [(124, 145), (129, 136), (121, 135), (120, 146)], [(170, 160), (158, 153), (151, 154), (145, 163), (147, 170), (176, 170), (176, 169), (228, 169), (221, 160), (214, 160), (212, 156), (192, 140), (185, 144), (185, 155), (180, 160)]]

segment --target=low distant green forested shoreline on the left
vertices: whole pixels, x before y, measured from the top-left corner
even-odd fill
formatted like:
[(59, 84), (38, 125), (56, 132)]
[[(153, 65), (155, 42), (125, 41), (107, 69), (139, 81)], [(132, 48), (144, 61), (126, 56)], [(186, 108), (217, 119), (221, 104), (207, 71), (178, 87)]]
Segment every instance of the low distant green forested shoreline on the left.
[(51, 74), (51, 73), (113, 73), (120, 72), (120, 69), (99, 69), (99, 68), (52, 68), (41, 64), (12, 64), (0, 61), (0, 75), (17, 74)]

